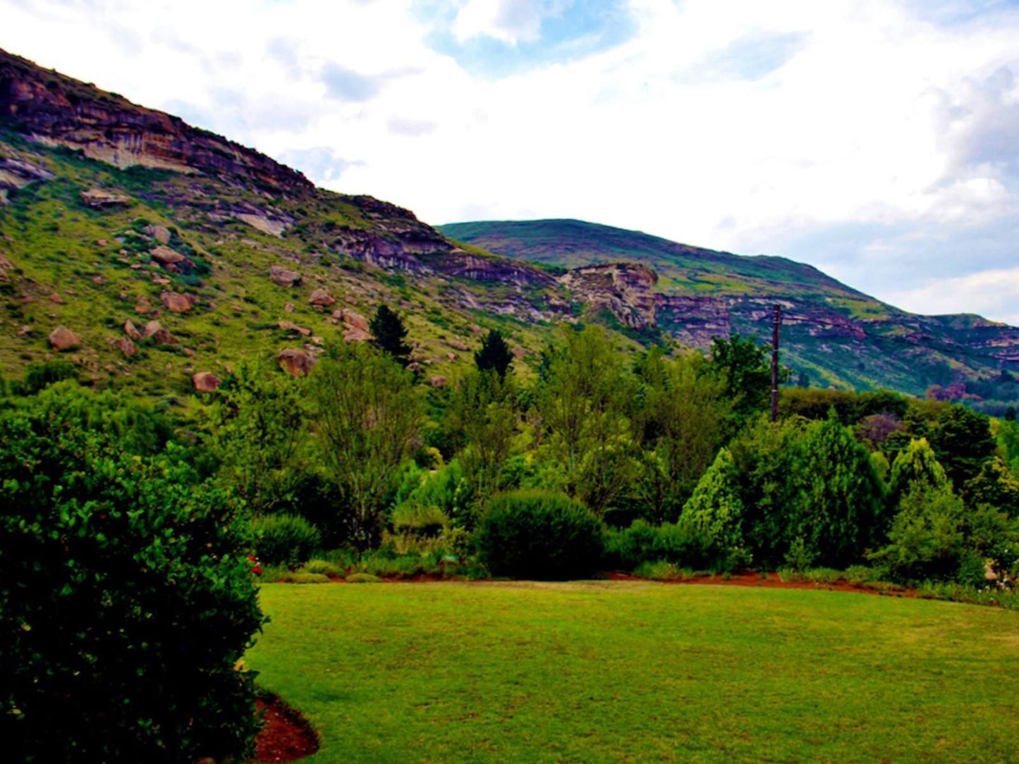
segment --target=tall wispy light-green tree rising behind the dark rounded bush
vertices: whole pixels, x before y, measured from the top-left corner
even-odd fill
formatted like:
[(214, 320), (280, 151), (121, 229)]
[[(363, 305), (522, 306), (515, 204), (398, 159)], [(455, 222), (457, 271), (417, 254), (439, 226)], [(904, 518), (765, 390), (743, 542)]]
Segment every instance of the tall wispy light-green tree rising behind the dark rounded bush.
[(632, 392), (623, 359), (604, 329), (560, 330), (547, 353), (538, 410), (567, 493), (599, 515), (630, 487), (637, 470), (626, 414)]

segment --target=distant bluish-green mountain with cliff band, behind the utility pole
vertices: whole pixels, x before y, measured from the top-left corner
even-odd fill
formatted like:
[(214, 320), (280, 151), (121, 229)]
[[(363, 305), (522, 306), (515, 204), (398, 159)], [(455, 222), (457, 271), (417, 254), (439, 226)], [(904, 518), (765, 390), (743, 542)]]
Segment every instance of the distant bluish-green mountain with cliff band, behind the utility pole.
[[(979, 316), (918, 316), (777, 257), (746, 257), (579, 220), (452, 223), (451, 238), (560, 268), (631, 263), (653, 269), (651, 325), (705, 348), (730, 329), (770, 336), (783, 307), (784, 363), (814, 384), (946, 396), (1014, 398), (1019, 329)], [(1004, 372), (1004, 374), (1003, 374)], [(938, 390), (935, 388), (935, 394)]]

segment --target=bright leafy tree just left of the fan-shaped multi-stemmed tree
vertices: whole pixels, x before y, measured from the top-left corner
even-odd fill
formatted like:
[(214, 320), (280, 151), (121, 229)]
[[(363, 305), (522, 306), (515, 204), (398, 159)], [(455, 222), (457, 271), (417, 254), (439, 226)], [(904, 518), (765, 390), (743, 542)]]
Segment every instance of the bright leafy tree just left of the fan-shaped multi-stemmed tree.
[(256, 512), (288, 506), (303, 477), (307, 442), (304, 377), (268, 365), (242, 366), (217, 391), (206, 443), (219, 462), (219, 480)]

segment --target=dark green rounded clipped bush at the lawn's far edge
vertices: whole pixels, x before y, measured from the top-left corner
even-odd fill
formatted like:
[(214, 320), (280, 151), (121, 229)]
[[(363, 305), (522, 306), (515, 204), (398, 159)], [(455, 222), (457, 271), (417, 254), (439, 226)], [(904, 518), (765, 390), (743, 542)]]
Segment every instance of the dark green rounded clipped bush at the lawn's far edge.
[(495, 576), (583, 578), (601, 561), (603, 530), (590, 509), (564, 494), (517, 491), (488, 503), (478, 529), (478, 550)]

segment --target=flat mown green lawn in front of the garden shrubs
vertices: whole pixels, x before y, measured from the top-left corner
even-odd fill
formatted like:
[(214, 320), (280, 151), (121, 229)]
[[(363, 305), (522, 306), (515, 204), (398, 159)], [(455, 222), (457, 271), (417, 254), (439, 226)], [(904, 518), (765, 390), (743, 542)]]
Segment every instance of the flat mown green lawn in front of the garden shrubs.
[(1019, 761), (1019, 613), (654, 583), (267, 585), (315, 762)]

